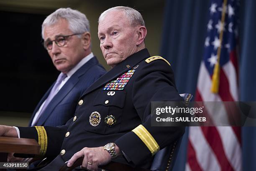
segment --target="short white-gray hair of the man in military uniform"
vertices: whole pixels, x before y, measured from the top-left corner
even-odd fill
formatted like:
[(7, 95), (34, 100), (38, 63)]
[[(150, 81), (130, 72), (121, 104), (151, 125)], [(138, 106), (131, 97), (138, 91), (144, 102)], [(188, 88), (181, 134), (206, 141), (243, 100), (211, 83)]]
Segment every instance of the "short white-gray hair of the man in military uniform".
[(124, 6), (113, 7), (113, 8), (109, 8), (108, 10), (105, 10), (103, 13), (101, 13), (98, 23), (100, 23), (100, 21), (103, 20), (105, 15), (110, 11), (122, 11), (125, 17), (131, 22), (131, 25), (145, 26), (145, 22), (142, 18), (141, 13), (139, 13), (137, 10), (133, 8), (124, 7)]

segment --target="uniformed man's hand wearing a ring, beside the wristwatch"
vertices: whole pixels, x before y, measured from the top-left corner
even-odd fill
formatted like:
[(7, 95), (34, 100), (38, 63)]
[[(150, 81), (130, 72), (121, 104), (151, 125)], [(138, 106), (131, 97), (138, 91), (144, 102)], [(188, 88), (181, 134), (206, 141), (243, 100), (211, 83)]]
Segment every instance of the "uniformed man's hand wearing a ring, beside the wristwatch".
[[(115, 146), (115, 151), (117, 155), (120, 155), (120, 150), (118, 146)], [(72, 166), (74, 162), (82, 156), (84, 156), (82, 167), (87, 168), (87, 170), (90, 170), (90, 171), (97, 171), (98, 166), (105, 165), (111, 161), (110, 153), (104, 150), (104, 147), (96, 147), (96, 148), (85, 147), (81, 151), (78, 151), (77, 153), (75, 153), (72, 156), (72, 158), (70, 158), (67, 166), (68, 167)]]

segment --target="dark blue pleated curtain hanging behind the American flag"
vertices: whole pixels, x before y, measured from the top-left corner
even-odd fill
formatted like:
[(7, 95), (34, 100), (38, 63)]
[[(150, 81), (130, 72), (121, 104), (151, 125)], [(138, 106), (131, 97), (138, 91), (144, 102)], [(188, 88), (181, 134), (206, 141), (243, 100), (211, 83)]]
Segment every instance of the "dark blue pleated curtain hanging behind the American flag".
[[(195, 94), (202, 60), (210, 0), (166, 0), (161, 55), (174, 70), (179, 93)], [(241, 101), (256, 101), (256, 1), (241, 0), (239, 9), (239, 86)], [(174, 170), (187, 159), (187, 136), (182, 139)], [(256, 170), (256, 128), (242, 128), (243, 170)]]

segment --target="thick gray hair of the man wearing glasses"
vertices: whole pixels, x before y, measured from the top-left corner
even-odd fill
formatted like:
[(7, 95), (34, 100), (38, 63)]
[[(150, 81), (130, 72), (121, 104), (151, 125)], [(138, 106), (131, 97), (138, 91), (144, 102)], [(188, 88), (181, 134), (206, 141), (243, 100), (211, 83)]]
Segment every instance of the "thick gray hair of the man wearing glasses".
[(71, 8), (59, 8), (54, 13), (51, 13), (42, 24), (42, 38), (44, 39), (44, 28), (45, 26), (53, 25), (64, 18), (69, 22), (69, 29), (73, 33), (84, 33), (90, 32), (90, 23), (87, 17)]

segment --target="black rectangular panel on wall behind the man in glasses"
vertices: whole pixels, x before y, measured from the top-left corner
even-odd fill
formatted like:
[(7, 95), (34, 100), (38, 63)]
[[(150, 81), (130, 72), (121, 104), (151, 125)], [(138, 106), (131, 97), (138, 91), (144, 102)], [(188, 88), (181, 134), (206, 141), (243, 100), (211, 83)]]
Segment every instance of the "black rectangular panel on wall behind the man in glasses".
[(0, 11), (0, 111), (32, 113), (59, 73), (41, 45), (45, 18)]

